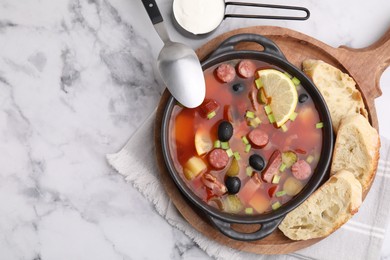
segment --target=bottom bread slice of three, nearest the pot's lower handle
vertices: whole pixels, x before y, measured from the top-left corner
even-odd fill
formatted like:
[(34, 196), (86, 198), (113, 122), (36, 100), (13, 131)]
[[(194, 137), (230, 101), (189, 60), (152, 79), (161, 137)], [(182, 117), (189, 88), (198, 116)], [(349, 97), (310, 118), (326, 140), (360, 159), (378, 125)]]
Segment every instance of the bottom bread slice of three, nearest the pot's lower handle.
[(353, 173), (343, 170), (287, 214), (279, 229), (292, 240), (325, 237), (347, 222), (361, 203), (360, 182)]

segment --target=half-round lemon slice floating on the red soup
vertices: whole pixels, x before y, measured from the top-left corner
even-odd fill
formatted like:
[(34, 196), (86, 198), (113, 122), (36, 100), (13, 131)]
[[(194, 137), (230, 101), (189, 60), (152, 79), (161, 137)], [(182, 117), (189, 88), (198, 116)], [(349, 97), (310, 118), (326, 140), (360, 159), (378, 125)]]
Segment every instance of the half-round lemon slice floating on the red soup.
[(257, 72), (263, 83), (264, 92), (270, 100), (275, 123), (281, 127), (290, 118), (298, 103), (297, 89), (292, 80), (283, 72), (275, 69)]

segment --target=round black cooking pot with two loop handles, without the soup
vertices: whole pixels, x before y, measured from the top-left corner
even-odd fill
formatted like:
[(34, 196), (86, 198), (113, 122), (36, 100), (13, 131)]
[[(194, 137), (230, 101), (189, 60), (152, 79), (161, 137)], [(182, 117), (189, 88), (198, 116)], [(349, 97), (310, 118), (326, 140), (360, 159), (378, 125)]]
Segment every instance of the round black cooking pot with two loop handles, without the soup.
[[(263, 51), (235, 50), (235, 46), (241, 42), (254, 42), (263, 46)], [(278, 46), (268, 38), (257, 34), (239, 34), (225, 40), (206, 60), (202, 62), (203, 70), (216, 64), (227, 62), (234, 59), (253, 59), (264, 61), (283, 69), (287, 73), (294, 75), (300, 81), (302, 86), (309, 93), (320, 114), (320, 120), (323, 122), (323, 141), (321, 158), (318, 162), (311, 179), (304, 189), (289, 202), (284, 204), (278, 210), (259, 214), (259, 215), (236, 215), (209, 206), (202, 201), (186, 185), (180, 174), (176, 171), (170, 150), (169, 150), (169, 119), (176, 100), (170, 97), (162, 120), (162, 152), (164, 160), (170, 175), (180, 191), (193, 203), (199, 210), (206, 214), (214, 226), (228, 237), (243, 241), (252, 241), (262, 239), (271, 234), (288, 212), (304, 202), (312, 194), (327, 176), (329, 164), (333, 151), (333, 130), (332, 123), (326, 103), (318, 89), (310, 79), (298, 68), (289, 63)], [(242, 233), (232, 229), (232, 223), (239, 224), (261, 224), (260, 228), (253, 233)]]

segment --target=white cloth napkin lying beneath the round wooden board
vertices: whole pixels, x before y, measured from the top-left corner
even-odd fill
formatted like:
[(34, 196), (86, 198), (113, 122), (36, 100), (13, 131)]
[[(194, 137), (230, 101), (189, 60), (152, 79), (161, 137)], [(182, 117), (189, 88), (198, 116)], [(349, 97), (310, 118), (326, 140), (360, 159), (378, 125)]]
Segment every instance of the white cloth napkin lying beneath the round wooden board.
[[(195, 230), (176, 210), (159, 181), (154, 146), (155, 113), (108, 162), (134, 185), (172, 226), (182, 230), (216, 259), (379, 259), (390, 208), (390, 141), (381, 138), (381, 157), (375, 181), (359, 212), (329, 237), (303, 250), (265, 256), (223, 246)], [(149, 142), (147, 142), (149, 141)], [(140, 149), (142, 147), (142, 149)]]

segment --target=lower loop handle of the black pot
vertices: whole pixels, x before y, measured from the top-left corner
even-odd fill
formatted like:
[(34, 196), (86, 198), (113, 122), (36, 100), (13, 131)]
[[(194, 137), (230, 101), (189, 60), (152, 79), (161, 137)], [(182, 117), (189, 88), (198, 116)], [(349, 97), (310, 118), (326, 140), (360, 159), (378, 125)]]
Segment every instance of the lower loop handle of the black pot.
[(241, 241), (254, 241), (271, 234), (282, 222), (284, 217), (261, 224), (259, 230), (252, 233), (241, 233), (232, 229), (231, 224), (212, 216), (208, 216), (213, 225), (225, 236)]

